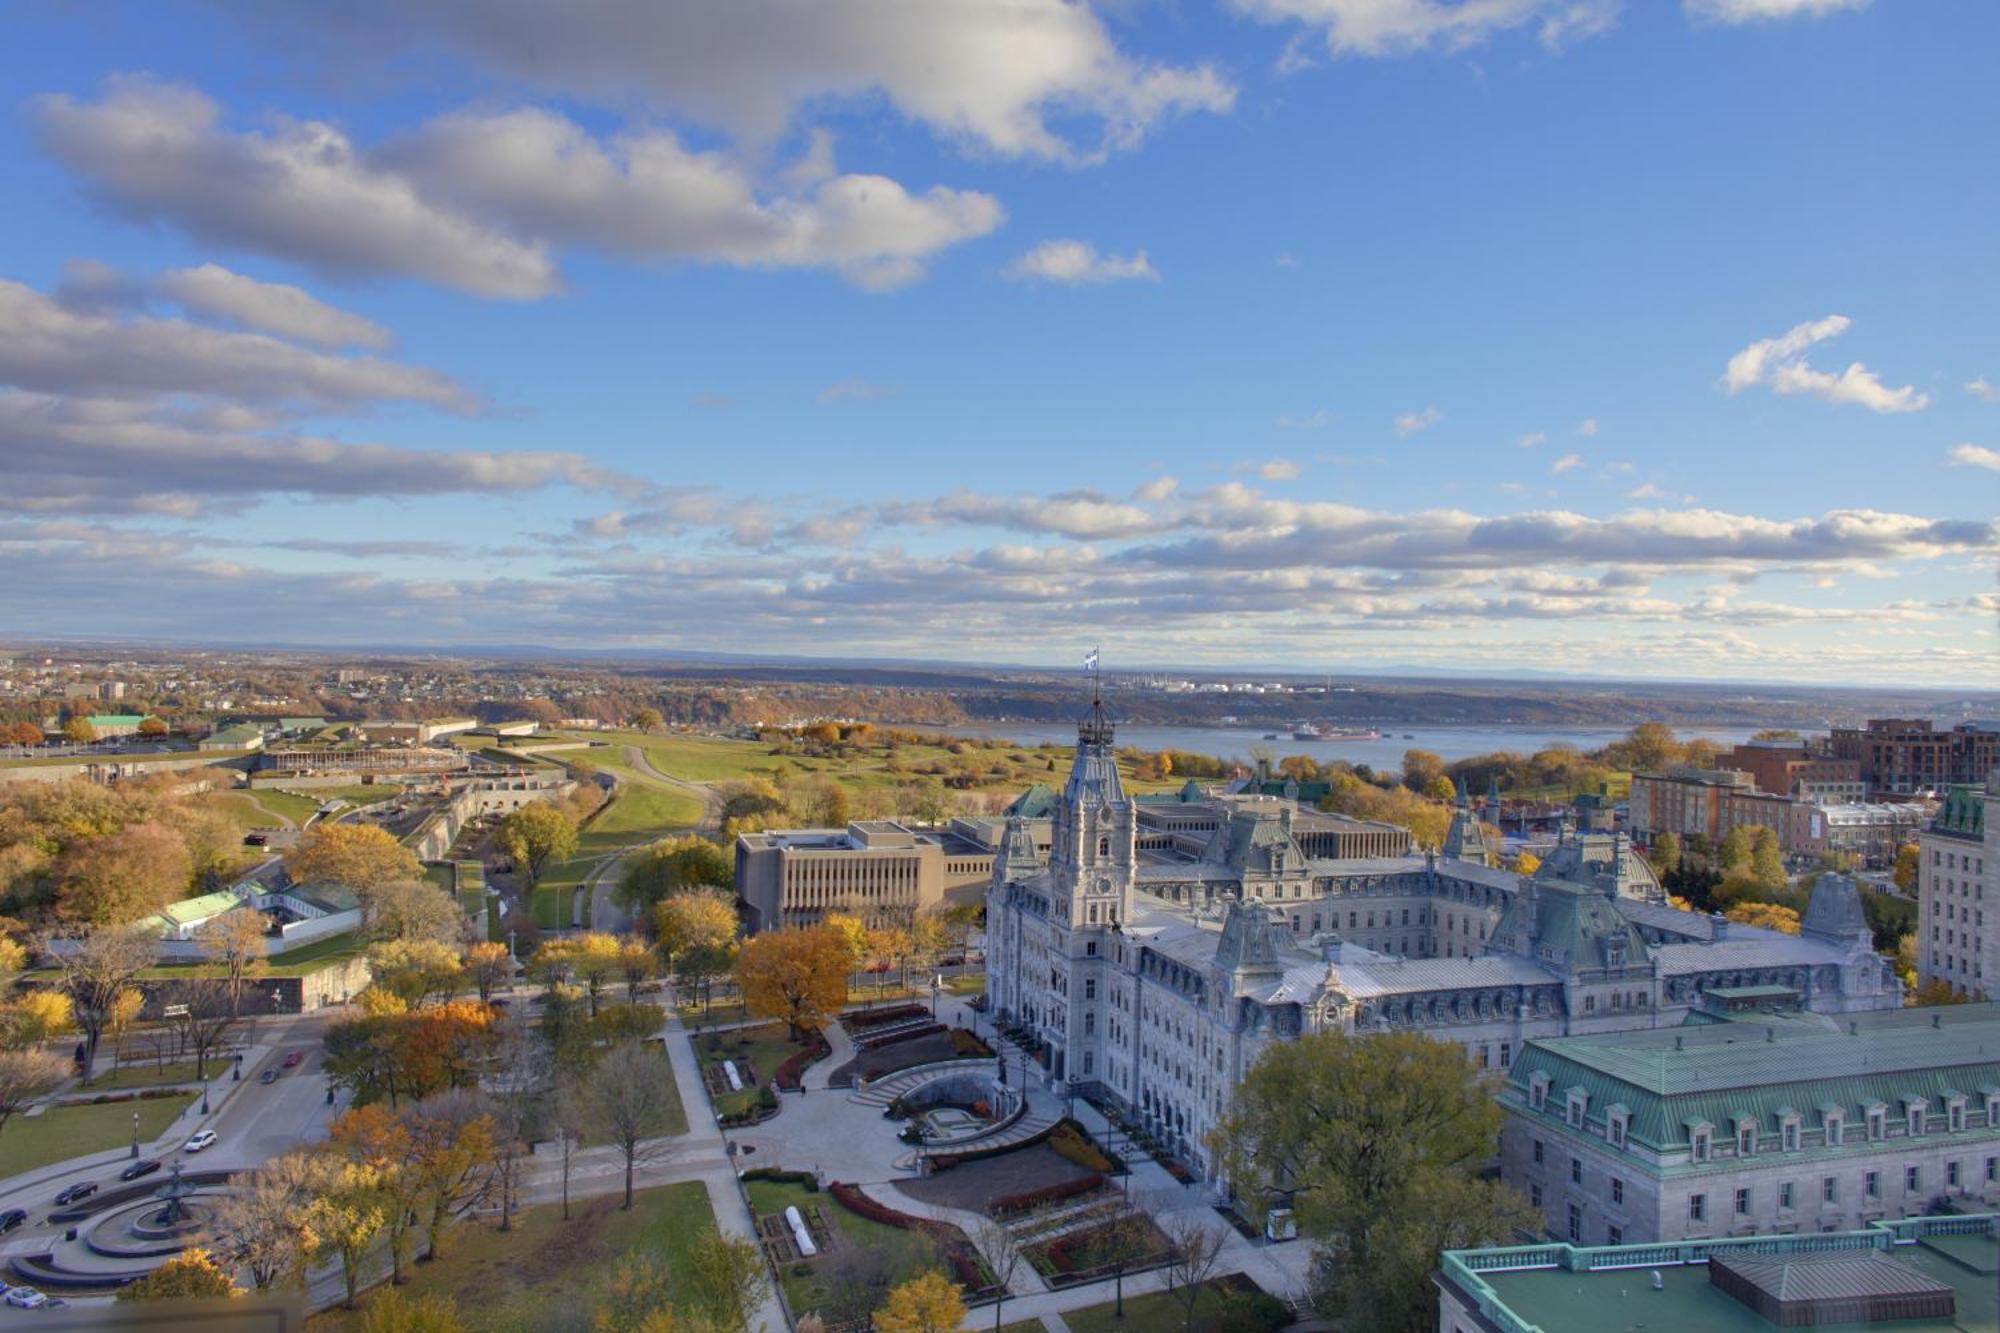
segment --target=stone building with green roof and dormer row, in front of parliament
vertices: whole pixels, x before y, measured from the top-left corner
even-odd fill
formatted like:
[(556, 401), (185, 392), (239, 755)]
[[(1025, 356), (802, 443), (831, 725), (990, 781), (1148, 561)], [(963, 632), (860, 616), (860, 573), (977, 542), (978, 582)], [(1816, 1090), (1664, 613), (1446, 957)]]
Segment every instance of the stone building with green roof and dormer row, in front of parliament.
[[(1868, 935), (1852, 897), (1816, 895), (1806, 931)], [(1674, 1031), (1530, 1041), (1500, 1091), (1502, 1179), (1572, 1245), (2000, 1203), (2000, 1007), (1820, 1015), (1816, 973), (1710, 991)]]

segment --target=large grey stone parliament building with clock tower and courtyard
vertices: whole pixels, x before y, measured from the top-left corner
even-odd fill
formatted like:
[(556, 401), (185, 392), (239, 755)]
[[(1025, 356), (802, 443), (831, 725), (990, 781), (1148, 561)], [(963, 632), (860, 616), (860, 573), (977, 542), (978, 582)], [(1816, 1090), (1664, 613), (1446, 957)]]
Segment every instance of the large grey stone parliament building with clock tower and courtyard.
[[(1792, 937), (1676, 911), (1618, 833), (1566, 837), (1522, 879), (1488, 865), (1464, 797), (1452, 857), (1314, 861), (1278, 797), (1230, 805), (1196, 857), (1140, 849), (1112, 739), (1094, 707), (1046, 859), (1008, 821), (988, 997), (1054, 1081), (1210, 1179), (1232, 1089), (1310, 1031), (1420, 1031), (1506, 1069), (1536, 1037), (1678, 1025), (1710, 989), (1786, 985), (1828, 1013), (1902, 1003), (1866, 927)], [(1838, 877), (1818, 891), (1858, 913), (1854, 893)]]

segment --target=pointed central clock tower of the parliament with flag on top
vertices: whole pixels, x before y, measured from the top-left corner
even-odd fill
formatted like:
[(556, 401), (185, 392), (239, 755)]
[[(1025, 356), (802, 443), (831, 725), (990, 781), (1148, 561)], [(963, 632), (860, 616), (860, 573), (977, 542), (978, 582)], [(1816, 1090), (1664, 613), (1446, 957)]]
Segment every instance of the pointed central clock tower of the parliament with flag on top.
[(1138, 821), (1118, 777), (1116, 729), (1104, 717), (1104, 683), (1092, 654), (1090, 717), (1076, 725), (1076, 763), (1062, 785), (1048, 869), (1070, 929), (1112, 927), (1132, 915)]

